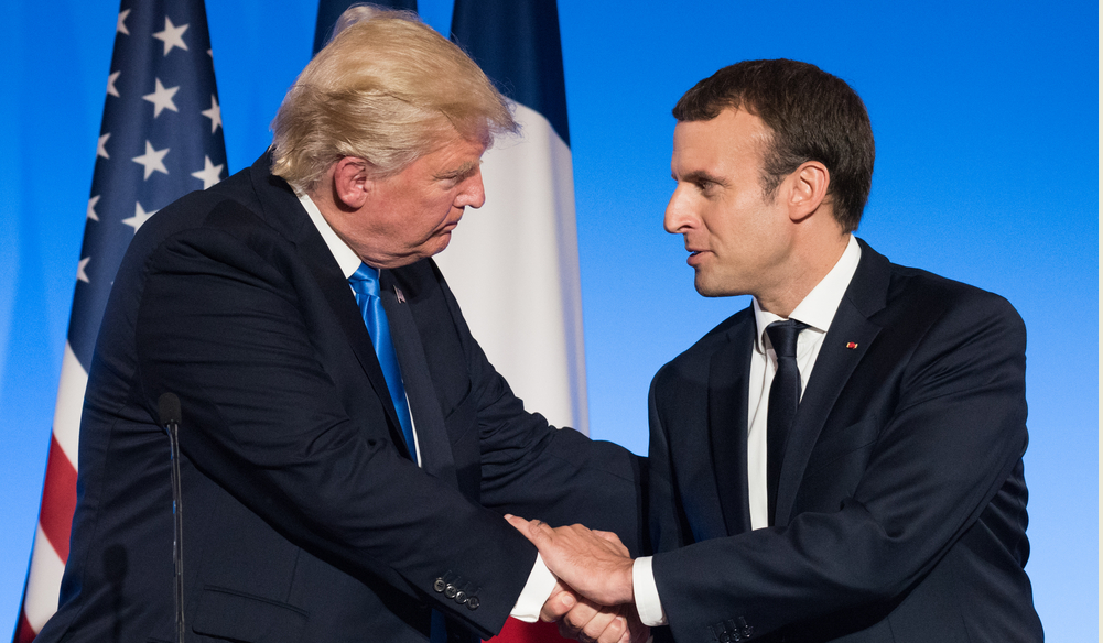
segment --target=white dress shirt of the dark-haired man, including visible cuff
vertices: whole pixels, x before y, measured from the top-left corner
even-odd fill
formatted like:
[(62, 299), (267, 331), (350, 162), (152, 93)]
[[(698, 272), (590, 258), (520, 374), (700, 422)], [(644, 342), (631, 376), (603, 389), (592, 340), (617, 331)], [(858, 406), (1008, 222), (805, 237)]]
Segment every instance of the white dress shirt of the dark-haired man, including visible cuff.
[[(843, 294), (850, 285), (854, 271), (861, 258), (861, 247), (854, 235), (849, 235), (846, 249), (835, 266), (820, 280), (820, 283), (793, 309), (789, 319), (808, 324), (808, 328), (797, 335), (796, 366), (801, 372), (801, 396), (807, 388), (808, 377), (815, 366), (816, 356), (823, 345), (824, 336), (835, 311), (843, 301)], [(751, 354), (751, 369), (748, 375), (747, 397), (747, 490), (751, 507), (751, 528), (761, 529), (769, 526), (767, 511), (767, 407), (770, 401), (770, 384), (778, 369), (778, 356), (770, 344), (765, 328), (775, 321), (784, 321), (772, 312), (759, 307), (753, 300), (754, 322), (758, 332), (754, 335), (754, 350)], [(635, 607), (644, 625), (655, 626), (666, 624), (655, 577), (651, 570), (651, 557), (636, 558), (632, 567), (632, 589), (635, 592)]]

